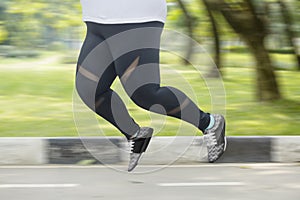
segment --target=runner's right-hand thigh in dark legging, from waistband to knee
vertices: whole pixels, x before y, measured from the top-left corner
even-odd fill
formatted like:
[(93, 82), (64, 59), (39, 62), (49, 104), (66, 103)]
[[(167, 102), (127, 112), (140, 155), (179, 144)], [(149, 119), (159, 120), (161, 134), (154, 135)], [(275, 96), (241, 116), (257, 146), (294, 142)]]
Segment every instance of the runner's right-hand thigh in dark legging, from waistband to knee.
[(160, 84), (159, 53), (163, 23), (149, 22), (110, 26), (120, 33), (108, 39), (115, 59), (115, 71), (131, 95), (137, 88), (149, 84)]

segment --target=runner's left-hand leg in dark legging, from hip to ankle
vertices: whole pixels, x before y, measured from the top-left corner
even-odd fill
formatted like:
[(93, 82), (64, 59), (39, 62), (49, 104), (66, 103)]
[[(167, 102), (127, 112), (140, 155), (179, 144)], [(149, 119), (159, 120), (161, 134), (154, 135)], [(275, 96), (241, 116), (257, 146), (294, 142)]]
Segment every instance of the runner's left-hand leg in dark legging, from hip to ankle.
[(90, 109), (129, 138), (139, 126), (130, 117), (118, 94), (110, 89), (117, 74), (109, 47), (99, 31), (96, 24), (87, 23), (87, 36), (77, 64), (76, 89)]

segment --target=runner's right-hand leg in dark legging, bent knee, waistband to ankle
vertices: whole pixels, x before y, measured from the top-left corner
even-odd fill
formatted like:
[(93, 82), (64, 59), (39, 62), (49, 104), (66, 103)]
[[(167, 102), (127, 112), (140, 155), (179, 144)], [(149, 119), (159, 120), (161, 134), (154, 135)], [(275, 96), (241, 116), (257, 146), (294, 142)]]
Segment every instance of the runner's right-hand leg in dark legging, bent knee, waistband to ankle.
[[(141, 28), (145, 30), (140, 31)], [(204, 132), (210, 123), (210, 114), (200, 110), (180, 90), (160, 86), (159, 48), (163, 23), (108, 25), (106, 30), (109, 32), (104, 33), (111, 34), (118, 29), (134, 30), (129, 32), (128, 39), (125, 33), (120, 36), (122, 42), (113, 44), (113, 40), (108, 43), (113, 54), (128, 47), (128, 52), (115, 58), (115, 70), (130, 98), (146, 110), (182, 119)], [(137, 44), (140, 48), (131, 50)], [(151, 44), (152, 48), (147, 48), (147, 44)]]

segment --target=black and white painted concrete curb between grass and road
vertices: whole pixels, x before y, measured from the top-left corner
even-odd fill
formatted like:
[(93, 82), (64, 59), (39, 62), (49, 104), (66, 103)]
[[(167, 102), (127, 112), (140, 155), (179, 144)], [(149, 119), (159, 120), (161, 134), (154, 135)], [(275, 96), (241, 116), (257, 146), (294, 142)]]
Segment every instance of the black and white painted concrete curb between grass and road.
[[(227, 137), (218, 162), (300, 162), (300, 136)], [(123, 137), (0, 138), (0, 165), (120, 164), (128, 162)], [(203, 137), (154, 137), (141, 164), (207, 162)]]

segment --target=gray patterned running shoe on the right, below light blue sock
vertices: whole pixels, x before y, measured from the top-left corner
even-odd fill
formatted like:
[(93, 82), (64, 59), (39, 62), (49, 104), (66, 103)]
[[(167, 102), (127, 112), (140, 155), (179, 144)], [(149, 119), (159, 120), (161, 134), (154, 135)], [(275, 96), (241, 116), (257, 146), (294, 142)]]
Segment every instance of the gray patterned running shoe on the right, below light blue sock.
[(208, 152), (208, 162), (218, 160), (226, 150), (225, 119), (222, 115), (213, 114), (215, 124), (212, 128), (205, 130), (204, 141)]

